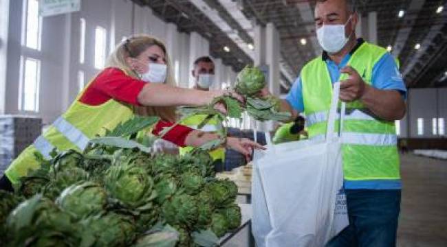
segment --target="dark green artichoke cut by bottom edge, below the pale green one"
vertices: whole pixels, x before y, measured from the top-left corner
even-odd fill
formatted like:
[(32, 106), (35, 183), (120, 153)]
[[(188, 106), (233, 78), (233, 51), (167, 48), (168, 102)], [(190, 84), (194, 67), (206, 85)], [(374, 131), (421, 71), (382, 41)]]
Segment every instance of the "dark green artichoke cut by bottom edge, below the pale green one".
[(80, 222), (83, 242), (80, 246), (128, 246), (135, 239), (135, 226), (130, 217), (118, 213), (100, 213)]

